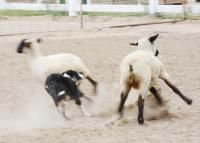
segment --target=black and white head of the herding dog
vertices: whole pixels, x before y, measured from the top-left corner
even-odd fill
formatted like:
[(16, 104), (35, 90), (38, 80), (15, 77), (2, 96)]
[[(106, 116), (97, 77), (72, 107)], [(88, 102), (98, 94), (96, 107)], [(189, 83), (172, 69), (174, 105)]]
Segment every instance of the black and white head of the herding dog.
[(68, 70), (68, 71), (62, 73), (62, 75), (64, 77), (71, 78), (76, 83), (76, 85), (79, 85), (81, 80), (83, 79), (83, 74), (78, 73), (78, 72), (73, 71), (73, 70)]

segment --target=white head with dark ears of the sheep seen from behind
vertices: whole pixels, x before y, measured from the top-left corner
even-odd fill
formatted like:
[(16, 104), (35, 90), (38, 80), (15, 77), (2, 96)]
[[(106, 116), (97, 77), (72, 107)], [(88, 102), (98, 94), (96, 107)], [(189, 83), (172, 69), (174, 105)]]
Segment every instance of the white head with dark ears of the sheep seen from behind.
[(130, 43), (132, 46), (138, 46), (138, 49), (153, 53), (158, 56), (159, 51), (154, 46), (155, 40), (158, 38), (159, 34), (154, 34), (150, 37), (144, 37), (139, 39), (137, 42)]

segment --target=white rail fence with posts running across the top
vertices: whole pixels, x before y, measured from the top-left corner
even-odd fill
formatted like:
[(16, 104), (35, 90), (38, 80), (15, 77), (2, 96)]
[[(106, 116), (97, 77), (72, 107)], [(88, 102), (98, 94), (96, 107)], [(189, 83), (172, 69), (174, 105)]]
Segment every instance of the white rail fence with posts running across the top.
[(200, 5), (159, 5), (158, 0), (149, 0), (149, 5), (80, 5), (79, 0), (68, 0), (68, 4), (38, 4), (38, 3), (5, 3), (0, 1), (0, 10), (41, 10), (66, 11), (69, 16), (76, 16), (77, 12), (119, 12), (119, 13), (183, 13), (185, 11), (200, 14)]

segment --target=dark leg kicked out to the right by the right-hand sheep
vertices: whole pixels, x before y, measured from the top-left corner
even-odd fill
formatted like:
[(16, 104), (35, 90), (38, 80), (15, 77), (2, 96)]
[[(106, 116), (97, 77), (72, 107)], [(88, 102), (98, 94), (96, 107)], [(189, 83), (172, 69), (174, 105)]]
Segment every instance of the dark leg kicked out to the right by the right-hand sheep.
[(192, 104), (192, 99), (186, 97), (170, 80), (170, 77), (166, 71), (163, 71), (160, 78), (176, 93), (178, 94), (188, 105)]

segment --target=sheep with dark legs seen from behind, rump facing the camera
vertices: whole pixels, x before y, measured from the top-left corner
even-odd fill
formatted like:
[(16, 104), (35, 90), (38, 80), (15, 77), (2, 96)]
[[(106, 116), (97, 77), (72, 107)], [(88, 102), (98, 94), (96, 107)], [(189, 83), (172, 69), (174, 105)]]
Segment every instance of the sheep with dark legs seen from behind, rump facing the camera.
[(156, 57), (159, 53), (154, 46), (154, 41), (157, 37), (158, 34), (155, 34), (150, 37), (141, 38), (138, 42), (130, 43), (130, 45), (138, 46), (138, 48), (136, 51), (127, 55), (121, 62), (121, 99), (118, 106), (119, 119), (123, 117), (125, 101), (130, 90), (133, 89), (136, 91), (134, 93), (138, 94), (138, 123), (144, 123), (144, 98), (147, 95), (148, 90), (150, 90), (154, 95), (158, 95), (158, 91), (154, 88), (158, 79), (162, 79), (188, 105), (192, 104), (192, 100), (186, 97), (175, 86), (167, 73), (165, 66)]

